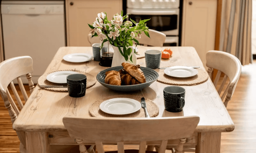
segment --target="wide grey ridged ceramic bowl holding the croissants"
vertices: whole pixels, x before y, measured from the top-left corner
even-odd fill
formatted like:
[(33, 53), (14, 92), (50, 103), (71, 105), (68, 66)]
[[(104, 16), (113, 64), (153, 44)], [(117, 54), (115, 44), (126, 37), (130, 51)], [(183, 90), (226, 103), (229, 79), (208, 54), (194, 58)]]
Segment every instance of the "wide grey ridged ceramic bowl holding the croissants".
[(109, 89), (112, 89), (112, 90), (116, 90), (116, 91), (137, 91), (137, 90), (141, 90), (141, 89), (144, 89), (144, 88), (150, 86), (159, 77), (159, 74), (156, 71), (154, 71), (152, 69), (149, 69), (149, 68), (140, 67), (140, 69), (144, 73), (144, 76), (146, 77), (146, 82), (145, 83), (135, 84), (135, 85), (111, 85), (111, 84), (106, 84), (105, 83), (105, 73), (107, 71), (111, 71), (111, 70), (119, 71), (121, 69), (123, 69), (122, 66), (113, 67), (113, 68), (103, 70), (100, 73), (98, 73), (98, 75), (96, 76), (96, 79), (97, 79), (98, 82), (100, 82), (100, 84), (102, 84), (103, 86), (105, 86)]

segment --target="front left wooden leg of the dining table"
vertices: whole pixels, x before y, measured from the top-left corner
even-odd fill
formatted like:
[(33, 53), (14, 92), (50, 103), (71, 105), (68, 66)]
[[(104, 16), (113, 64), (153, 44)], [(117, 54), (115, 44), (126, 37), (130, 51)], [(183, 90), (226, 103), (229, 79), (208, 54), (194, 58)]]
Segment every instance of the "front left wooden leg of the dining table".
[(27, 153), (49, 153), (48, 132), (26, 132)]

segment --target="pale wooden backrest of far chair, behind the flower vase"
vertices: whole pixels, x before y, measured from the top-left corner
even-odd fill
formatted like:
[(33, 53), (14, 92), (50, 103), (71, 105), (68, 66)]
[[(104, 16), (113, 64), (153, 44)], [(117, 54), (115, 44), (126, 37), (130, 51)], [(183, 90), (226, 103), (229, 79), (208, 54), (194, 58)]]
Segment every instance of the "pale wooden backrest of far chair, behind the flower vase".
[[(143, 44), (144, 46), (156, 46), (156, 47), (162, 47), (166, 35), (164, 33), (161, 33), (156, 30), (149, 29), (148, 31), (150, 38), (144, 34), (144, 32), (141, 33), (141, 38), (137, 39), (140, 44)], [(87, 39), (89, 43), (92, 45), (94, 43), (100, 43), (100, 38), (99, 37), (92, 37), (92, 34), (88, 34)]]

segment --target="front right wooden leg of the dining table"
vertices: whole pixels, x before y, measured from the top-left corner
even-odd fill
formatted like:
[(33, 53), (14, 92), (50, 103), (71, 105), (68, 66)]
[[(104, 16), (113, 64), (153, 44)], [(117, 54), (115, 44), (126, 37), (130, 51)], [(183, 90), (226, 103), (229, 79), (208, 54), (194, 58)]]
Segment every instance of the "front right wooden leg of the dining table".
[(221, 132), (198, 133), (196, 153), (220, 153)]

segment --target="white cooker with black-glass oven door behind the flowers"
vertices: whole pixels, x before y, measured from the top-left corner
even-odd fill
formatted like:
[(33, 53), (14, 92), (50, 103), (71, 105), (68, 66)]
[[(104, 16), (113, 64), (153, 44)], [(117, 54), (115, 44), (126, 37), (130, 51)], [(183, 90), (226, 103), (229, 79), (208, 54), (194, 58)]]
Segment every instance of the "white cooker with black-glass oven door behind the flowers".
[(166, 35), (164, 46), (180, 46), (179, 7), (180, 0), (127, 0), (126, 13), (137, 23), (150, 19), (147, 27)]

